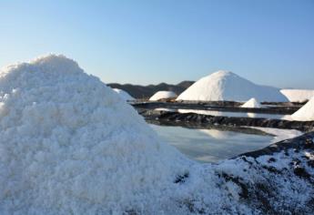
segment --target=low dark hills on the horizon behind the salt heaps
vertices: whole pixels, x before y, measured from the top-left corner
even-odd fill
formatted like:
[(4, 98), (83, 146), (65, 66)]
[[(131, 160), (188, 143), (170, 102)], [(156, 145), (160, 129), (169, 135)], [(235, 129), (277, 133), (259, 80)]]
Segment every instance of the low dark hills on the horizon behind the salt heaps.
[(107, 86), (112, 88), (119, 88), (127, 91), (129, 95), (136, 98), (149, 98), (153, 96), (157, 91), (167, 90), (173, 91), (177, 93), (177, 95), (181, 94), (187, 87), (190, 87), (194, 81), (182, 81), (177, 85), (168, 85), (166, 83), (160, 83), (158, 85), (148, 85), (148, 86), (140, 86), (140, 85), (131, 85), (125, 84), (120, 85), (117, 83), (107, 84)]

